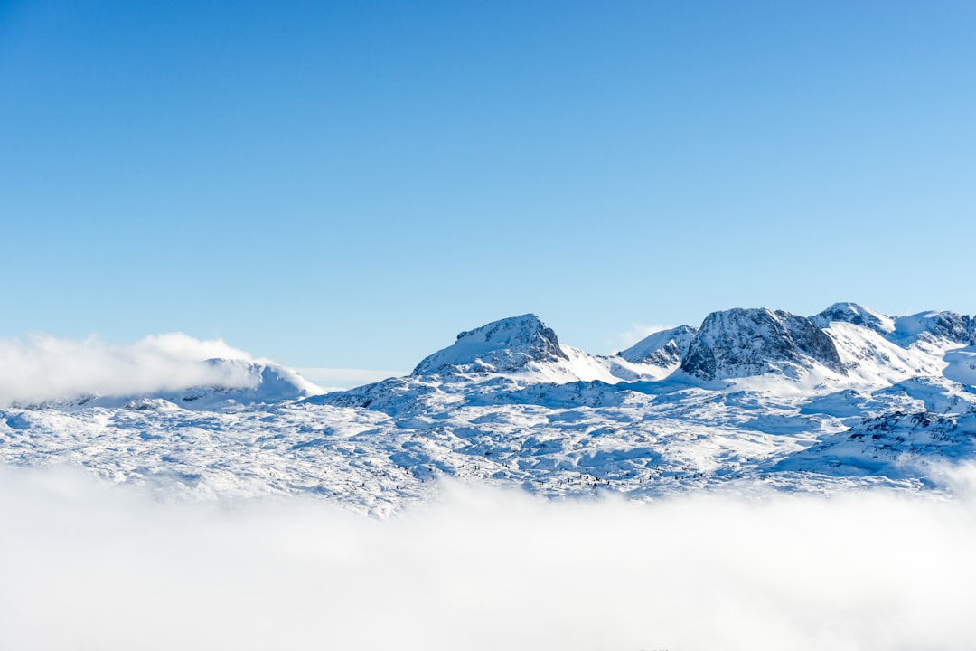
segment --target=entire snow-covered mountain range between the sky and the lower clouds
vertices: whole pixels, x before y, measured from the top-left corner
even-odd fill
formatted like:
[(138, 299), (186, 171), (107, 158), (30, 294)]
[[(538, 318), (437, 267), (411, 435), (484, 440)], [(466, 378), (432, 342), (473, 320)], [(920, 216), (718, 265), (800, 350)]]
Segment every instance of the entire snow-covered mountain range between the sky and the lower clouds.
[(976, 321), (955, 312), (729, 309), (615, 355), (525, 314), (461, 333), (408, 376), (318, 395), (281, 367), (207, 363), (242, 380), (0, 410), (0, 461), (386, 512), (439, 476), (637, 499), (943, 490), (940, 468), (976, 455)]

